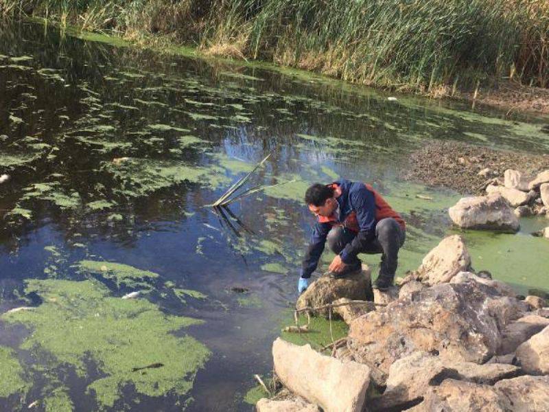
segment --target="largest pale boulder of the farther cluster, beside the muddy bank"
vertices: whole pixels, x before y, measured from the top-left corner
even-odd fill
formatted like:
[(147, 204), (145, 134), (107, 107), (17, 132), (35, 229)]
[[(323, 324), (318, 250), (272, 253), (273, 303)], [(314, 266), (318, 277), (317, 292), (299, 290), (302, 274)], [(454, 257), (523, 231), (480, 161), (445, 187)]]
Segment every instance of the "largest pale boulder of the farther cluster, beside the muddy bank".
[(461, 198), (448, 209), (455, 225), (466, 229), (518, 231), (519, 220), (499, 193)]

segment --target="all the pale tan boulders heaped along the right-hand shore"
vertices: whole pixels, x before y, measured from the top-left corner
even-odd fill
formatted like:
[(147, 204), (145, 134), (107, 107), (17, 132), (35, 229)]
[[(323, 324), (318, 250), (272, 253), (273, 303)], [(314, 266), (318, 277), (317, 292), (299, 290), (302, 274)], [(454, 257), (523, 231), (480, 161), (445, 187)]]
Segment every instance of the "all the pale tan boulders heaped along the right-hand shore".
[[(547, 213), (549, 170), (506, 170), (493, 179), (485, 196), (449, 209), (456, 225), (515, 231), (520, 207)], [(325, 348), (331, 354), (274, 341), (283, 389), (259, 400), (257, 411), (549, 411), (543, 298), (475, 273), (458, 235), (384, 292), (371, 289), (371, 272), (362, 269), (320, 277), (299, 297), (296, 312), (340, 317), (349, 333)]]

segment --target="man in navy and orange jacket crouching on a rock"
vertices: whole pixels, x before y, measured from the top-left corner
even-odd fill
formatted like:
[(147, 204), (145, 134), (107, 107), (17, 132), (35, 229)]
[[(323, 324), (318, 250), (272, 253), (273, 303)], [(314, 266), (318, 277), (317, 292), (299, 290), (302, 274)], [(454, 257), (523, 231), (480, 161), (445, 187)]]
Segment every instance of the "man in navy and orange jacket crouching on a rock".
[(331, 277), (360, 271), (358, 253), (381, 253), (379, 276), (373, 287), (386, 290), (393, 284), (406, 223), (371, 185), (345, 179), (329, 185), (315, 183), (305, 192), (305, 203), (316, 216), (316, 224), (303, 259), (299, 293), (309, 285), (326, 241), (336, 253), (329, 266)]

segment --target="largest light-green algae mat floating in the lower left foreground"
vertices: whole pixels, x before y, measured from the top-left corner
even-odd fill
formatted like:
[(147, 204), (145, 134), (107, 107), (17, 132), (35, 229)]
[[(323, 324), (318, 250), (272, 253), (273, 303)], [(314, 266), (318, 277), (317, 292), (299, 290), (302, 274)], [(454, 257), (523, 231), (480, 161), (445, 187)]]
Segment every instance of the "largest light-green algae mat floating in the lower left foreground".
[[(31, 328), (33, 333), (21, 349), (49, 354), (49, 367), (70, 365), (84, 377), (86, 364), (95, 363), (100, 377), (86, 391), (100, 407), (114, 407), (126, 385), (145, 396), (185, 396), (196, 371), (209, 358), (202, 343), (172, 333), (200, 323), (196, 319), (164, 314), (146, 299), (111, 297), (95, 279), (30, 279), (26, 283), (25, 292), (36, 293), (43, 303), (35, 310), (3, 314), (0, 319)], [(146, 374), (132, 371), (152, 363), (163, 367), (148, 369)]]

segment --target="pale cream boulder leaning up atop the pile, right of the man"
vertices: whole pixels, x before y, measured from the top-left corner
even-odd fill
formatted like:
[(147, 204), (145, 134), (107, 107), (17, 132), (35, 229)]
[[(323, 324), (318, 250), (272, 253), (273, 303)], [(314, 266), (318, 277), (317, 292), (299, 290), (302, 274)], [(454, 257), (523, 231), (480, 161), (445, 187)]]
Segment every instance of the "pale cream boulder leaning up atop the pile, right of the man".
[(427, 285), (449, 282), (461, 271), (467, 271), (471, 266), (471, 256), (465, 247), (461, 236), (448, 236), (434, 247), (412, 277)]

